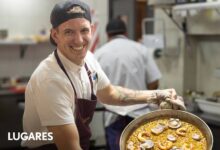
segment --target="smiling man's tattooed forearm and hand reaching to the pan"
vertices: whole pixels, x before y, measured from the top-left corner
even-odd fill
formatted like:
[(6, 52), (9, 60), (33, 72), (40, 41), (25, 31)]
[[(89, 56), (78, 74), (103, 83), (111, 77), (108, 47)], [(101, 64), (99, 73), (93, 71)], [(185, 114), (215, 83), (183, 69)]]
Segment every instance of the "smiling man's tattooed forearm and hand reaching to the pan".
[(136, 91), (108, 85), (97, 91), (97, 97), (102, 103), (109, 105), (126, 106), (144, 103), (156, 103), (159, 105), (162, 101), (167, 101), (177, 105), (179, 109), (185, 109), (183, 101), (178, 98), (174, 89)]

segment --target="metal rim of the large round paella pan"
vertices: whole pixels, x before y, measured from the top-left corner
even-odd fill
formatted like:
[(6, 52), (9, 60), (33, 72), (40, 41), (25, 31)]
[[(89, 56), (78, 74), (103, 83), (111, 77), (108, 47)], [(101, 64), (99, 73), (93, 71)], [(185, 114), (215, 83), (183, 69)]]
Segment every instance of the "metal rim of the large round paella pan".
[(126, 142), (135, 129), (150, 121), (158, 120), (164, 117), (179, 118), (180, 120), (195, 125), (197, 128), (199, 128), (202, 131), (202, 133), (207, 139), (207, 150), (212, 150), (213, 135), (208, 125), (202, 119), (186, 111), (170, 110), (170, 109), (150, 112), (148, 114), (138, 117), (137, 119), (134, 119), (131, 123), (129, 123), (122, 132), (120, 138), (120, 150), (126, 150)]

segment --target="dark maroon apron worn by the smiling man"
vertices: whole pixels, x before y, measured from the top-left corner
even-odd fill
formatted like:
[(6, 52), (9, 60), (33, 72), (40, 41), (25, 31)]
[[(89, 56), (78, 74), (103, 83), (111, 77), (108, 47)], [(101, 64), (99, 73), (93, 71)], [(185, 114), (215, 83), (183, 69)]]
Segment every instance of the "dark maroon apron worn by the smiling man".
[[(89, 124), (92, 121), (92, 117), (93, 117), (96, 103), (97, 103), (97, 98), (96, 98), (94, 91), (93, 91), (91, 71), (89, 70), (87, 64), (85, 63), (85, 69), (86, 69), (88, 77), (89, 77), (91, 91), (92, 91), (91, 100), (77, 98), (77, 93), (76, 93), (75, 87), (74, 87), (68, 73), (66, 72), (66, 69), (64, 68), (58, 54), (57, 54), (57, 50), (54, 51), (54, 55), (55, 55), (55, 58), (57, 60), (58, 65), (60, 66), (62, 71), (65, 73), (67, 78), (69, 79), (69, 81), (72, 85), (74, 94), (75, 94), (75, 100), (74, 100), (75, 101), (75, 112), (74, 112), (74, 114), (75, 114), (76, 126), (77, 126), (77, 129), (79, 132), (80, 146), (83, 150), (89, 150), (89, 139), (91, 137), (91, 130), (90, 130)], [(43, 145), (41, 147), (35, 148), (33, 150), (57, 150), (57, 148), (56, 148), (55, 144), (48, 144), (48, 145)]]

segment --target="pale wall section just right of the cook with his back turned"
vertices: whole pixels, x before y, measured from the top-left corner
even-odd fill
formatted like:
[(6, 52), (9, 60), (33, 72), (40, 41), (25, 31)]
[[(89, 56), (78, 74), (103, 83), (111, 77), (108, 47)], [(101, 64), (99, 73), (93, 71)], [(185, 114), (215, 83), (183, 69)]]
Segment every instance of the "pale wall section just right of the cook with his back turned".
[[(184, 37), (177, 26), (167, 17), (161, 9), (155, 9), (155, 18), (162, 19), (165, 22), (165, 41), (166, 49), (163, 50), (163, 56), (156, 59), (156, 62), (162, 72), (160, 88), (175, 88), (182, 95), (183, 93), (183, 50)], [(156, 22), (156, 33), (163, 33), (161, 24)]]

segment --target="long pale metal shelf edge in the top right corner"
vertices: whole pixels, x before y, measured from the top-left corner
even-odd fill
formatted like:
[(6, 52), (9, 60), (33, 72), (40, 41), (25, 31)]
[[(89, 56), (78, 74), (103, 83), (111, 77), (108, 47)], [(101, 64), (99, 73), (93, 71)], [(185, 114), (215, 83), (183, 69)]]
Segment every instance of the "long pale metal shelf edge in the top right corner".
[(219, 9), (220, 2), (201, 2), (201, 3), (190, 3), (190, 4), (179, 4), (173, 6), (174, 11), (182, 10), (201, 10), (201, 9)]

